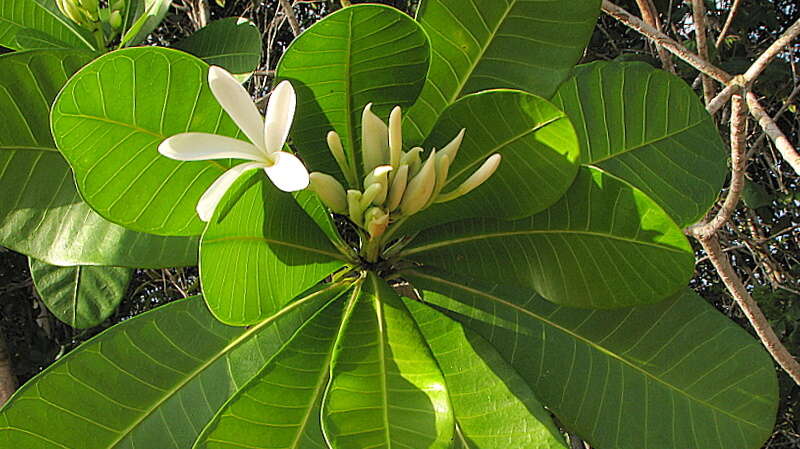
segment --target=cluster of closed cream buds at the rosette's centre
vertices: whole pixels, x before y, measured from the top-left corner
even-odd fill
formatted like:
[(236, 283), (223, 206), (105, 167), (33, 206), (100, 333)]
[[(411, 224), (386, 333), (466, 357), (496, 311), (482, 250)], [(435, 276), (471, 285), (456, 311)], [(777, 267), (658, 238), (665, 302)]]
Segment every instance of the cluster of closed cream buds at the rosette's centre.
[[(490, 156), (461, 185), (442, 192), (448, 183), (448, 170), (455, 160), (464, 131), (439, 151), (423, 160), (420, 147), (403, 151), (402, 114), (395, 107), (389, 125), (371, 110), (364, 108), (361, 117), (361, 154), (364, 173), (363, 190), (346, 190), (333, 176), (311, 173), (310, 188), (333, 212), (347, 215), (371, 238), (382, 235), (390, 223), (408, 217), (431, 204), (454, 200), (486, 181), (500, 164), (500, 155)], [(357, 185), (355, 167), (347, 161), (342, 141), (336, 132), (328, 134), (328, 147), (351, 185)]]

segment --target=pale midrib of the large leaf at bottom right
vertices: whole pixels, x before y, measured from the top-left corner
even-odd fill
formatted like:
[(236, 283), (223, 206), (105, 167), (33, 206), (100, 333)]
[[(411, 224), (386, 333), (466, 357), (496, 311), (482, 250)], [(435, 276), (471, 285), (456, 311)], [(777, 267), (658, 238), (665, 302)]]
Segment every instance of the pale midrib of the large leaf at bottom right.
[(604, 348), (603, 346), (600, 346), (600, 345), (596, 344), (594, 341), (589, 340), (588, 338), (583, 337), (583, 336), (573, 332), (571, 329), (567, 329), (567, 328), (555, 323), (554, 321), (548, 320), (547, 318), (545, 318), (545, 317), (543, 317), (543, 316), (541, 316), (541, 315), (539, 315), (537, 313), (534, 313), (534, 312), (532, 312), (530, 310), (527, 310), (527, 309), (525, 309), (523, 307), (520, 307), (520, 306), (518, 306), (516, 304), (510, 303), (510, 302), (508, 302), (508, 301), (506, 301), (506, 300), (504, 300), (502, 298), (499, 298), (497, 296), (491, 295), (491, 294), (486, 293), (484, 291), (481, 291), (481, 290), (478, 290), (478, 289), (475, 289), (475, 288), (472, 288), (472, 287), (468, 287), (466, 285), (459, 284), (459, 283), (456, 283), (456, 282), (453, 282), (453, 281), (449, 281), (447, 279), (440, 278), (438, 276), (433, 276), (433, 275), (421, 273), (421, 272), (416, 271), (416, 270), (409, 270), (409, 271), (406, 271), (406, 273), (409, 273), (409, 274), (411, 274), (413, 276), (426, 278), (426, 279), (431, 280), (433, 282), (439, 282), (439, 283), (442, 283), (442, 284), (445, 284), (445, 285), (448, 285), (448, 286), (451, 286), (451, 287), (454, 287), (454, 288), (457, 288), (457, 289), (465, 290), (465, 291), (467, 291), (467, 292), (469, 292), (471, 294), (474, 294), (474, 295), (477, 295), (477, 296), (482, 296), (482, 297), (484, 297), (484, 298), (486, 298), (486, 299), (488, 299), (490, 301), (495, 301), (495, 302), (497, 302), (497, 303), (499, 303), (501, 305), (510, 307), (510, 308), (516, 310), (519, 313), (522, 313), (524, 315), (528, 315), (531, 318), (534, 318), (534, 319), (536, 319), (538, 321), (541, 321), (542, 323), (547, 324), (547, 325), (551, 326), (552, 328), (554, 328), (556, 330), (559, 330), (559, 331), (561, 331), (561, 332), (563, 332), (563, 333), (575, 338), (576, 340), (579, 340), (579, 341), (583, 342), (584, 344), (586, 344), (587, 346), (589, 346), (591, 348), (594, 348), (598, 352), (601, 352), (601, 353), (603, 353), (603, 354), (605, 354), (605, 355), (607, 355), (607, 356), (609, 356), (609, 357), (611, 357), (611, 358), (613, 358), (615, 360), (618, 360), (623, 365), (631, 368), (633, 371), (639, 372), (639, 373), (647, 376), (648, 378), (653, 379), (654, 381), (658, 382), (659, 384), (662, 384), (662, 385), (668, 387), (669, 389), (671, 389), (671, 390), (673, 390), (673, 391), (675, 391), (675, 392), (677, 392), (677, 393), (679, 393), (679, 394), (681, 394), (681, 395), (683, 395), (683, 396), (695, 401), (698, 404), (702, 404), (702, 405), (708, 407), (709, 409), (717, 411), (717, 412), (719, 412), (719, 413), (721, 413), (721, 414), (723, 414), (725, 416), (728, 416), (728, 417), (730, 417), (730, 418), (732, 418), (732, 419), (734, 419), (736, 421), (740, 421), (740, 422), (743, 422), (745, 424), (749, 424), (749, 425), (751, 425), (751, 426), (753, 426), (753, 427), (755, 427), (757, 429), (769, 430), (769, 429), (767, 429), (765, 427), (761, 427), (758, 424), (752, 423), (752, 422), (750, 422), (750, 421), (748, 421), (748, 420), (746, 420), (746, 419), (744, 419), (744, 418), (742, 418), (740, 416), (736, 416), (736, 415), (734, 415), (734, 414), (732, 414), (732, 413), (730, 413), (730, 412), (728, 412), (726, 410), (722, 410), (719, 407), (717, 407), (717, 406), (715, 406), (715, 405), (713, 405), (713, 404), (711, 404), (709, 402), (706, 402), (706, 401), (704, 401), (702, 399), (699, 399), (699, 398), (691, 395), (690, 393), (688, 393), (688, 392), (686, 392), (684, 390), (681, 390), (680, 388), (678, 388), (675, 385), (672, 385), (672, 384), (666, 382), (665, 380), (661, 379), (660, 377), (656, 377), (655, 375), (651, 374), (650, 372), (639, 368), (638, 366), (636, 366), (636, 365), (632, 364), (631, 362), (629, 362), (627, 359), (618, 356), (616, 353)]

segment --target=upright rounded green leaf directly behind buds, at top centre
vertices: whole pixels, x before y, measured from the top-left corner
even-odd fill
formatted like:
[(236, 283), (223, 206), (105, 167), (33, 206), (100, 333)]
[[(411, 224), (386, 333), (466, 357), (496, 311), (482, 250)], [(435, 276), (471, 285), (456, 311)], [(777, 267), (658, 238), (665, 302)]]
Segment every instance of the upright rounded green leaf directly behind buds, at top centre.
[(394, 106), (410, 106), (425, 82), (429, 58), (419, 25), (381, 5), (342, 8), (298, 36), (278, 63), (277, 78), (291, 80), (297, 90), (291, 136), (307, 166), (344, 180), (326, 143), (335, 130), (350, 164), (363, 171), (355, 148), (364, 106), (373, 103), (384, 120)]

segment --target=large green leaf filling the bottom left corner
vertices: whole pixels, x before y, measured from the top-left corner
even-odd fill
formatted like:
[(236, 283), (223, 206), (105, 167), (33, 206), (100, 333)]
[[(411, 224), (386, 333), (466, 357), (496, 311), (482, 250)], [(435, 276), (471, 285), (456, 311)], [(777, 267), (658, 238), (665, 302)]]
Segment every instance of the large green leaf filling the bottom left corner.
[(25, 384), (0, 411), (0, 447), (191, 447), (233, 393), (346, 286), (228, 327), (194, 297), (112, 327)]

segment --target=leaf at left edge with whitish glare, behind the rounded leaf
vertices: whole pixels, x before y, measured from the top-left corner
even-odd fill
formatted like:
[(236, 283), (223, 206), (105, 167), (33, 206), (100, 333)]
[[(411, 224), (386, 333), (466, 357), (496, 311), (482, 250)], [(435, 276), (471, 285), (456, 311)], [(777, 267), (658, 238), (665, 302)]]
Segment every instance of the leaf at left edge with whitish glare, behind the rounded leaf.
[(0, 56), (0, 244), (55, 265), (195, 264), (195, 239), (126, 230), (79, 197), (50, 135), (49, 112), (61, 86), (89, 60), (77, 50)]

